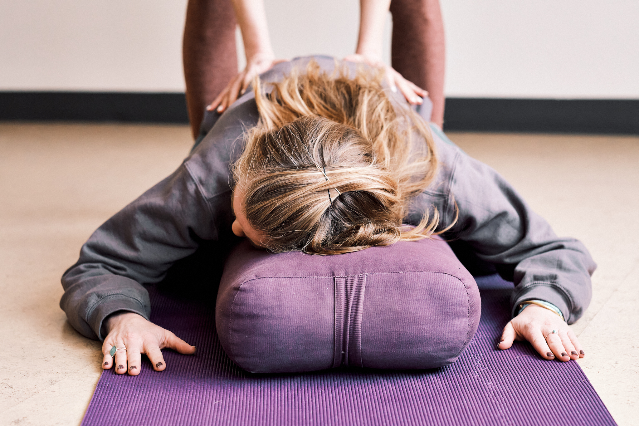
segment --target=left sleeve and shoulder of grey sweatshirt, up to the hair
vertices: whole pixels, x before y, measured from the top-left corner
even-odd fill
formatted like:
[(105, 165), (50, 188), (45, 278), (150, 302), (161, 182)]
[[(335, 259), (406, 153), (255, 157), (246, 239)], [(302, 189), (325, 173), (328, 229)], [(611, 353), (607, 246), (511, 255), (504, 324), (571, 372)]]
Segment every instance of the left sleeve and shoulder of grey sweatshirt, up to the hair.
[(255, 125), (252, 94), (221, 116), (212, 131), (168, 178), (101, 225), (62, 277), (60, 307), (69, 323), (91, 339), (104, 339), (105, 317), (119, 310), (149, 319), (142, 284), (160, 282), (199, 241), (228, 245), (233, 213), (232, 164), (242, 135)]

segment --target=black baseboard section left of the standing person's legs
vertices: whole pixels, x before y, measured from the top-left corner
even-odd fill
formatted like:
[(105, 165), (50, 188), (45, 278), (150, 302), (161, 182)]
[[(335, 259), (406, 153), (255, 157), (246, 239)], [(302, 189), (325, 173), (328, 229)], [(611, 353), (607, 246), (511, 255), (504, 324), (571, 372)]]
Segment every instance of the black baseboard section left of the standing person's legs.
[(189, 123), (184, 93), (0, 92), (0, 120)]

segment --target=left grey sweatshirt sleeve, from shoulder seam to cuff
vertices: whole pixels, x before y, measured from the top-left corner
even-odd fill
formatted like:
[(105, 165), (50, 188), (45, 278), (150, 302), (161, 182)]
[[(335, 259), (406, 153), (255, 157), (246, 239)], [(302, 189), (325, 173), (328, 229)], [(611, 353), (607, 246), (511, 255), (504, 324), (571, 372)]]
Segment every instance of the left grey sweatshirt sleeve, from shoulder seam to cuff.
[(102, 340), (102, 322), (113, 312), (149, 319), (148, 292), (140, 283), (160, 282), (198, 240), (215, 238), (208, 201), (183, 164), (91, 235), (62, 277), (60, 307), (77, 331)]

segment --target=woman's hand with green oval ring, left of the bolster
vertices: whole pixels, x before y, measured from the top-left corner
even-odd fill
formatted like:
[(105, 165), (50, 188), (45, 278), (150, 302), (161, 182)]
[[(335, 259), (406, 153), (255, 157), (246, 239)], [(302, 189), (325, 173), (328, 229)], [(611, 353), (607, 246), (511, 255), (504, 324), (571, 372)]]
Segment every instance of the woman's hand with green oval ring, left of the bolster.
[[(105, 321), (109, 333), (102, 345), (102, 368), (105, 370), (116, 365), (116, 373), (128, 372), (130, 376), (137, 376), (140, 374), (142, 354), (149, 357), (153, 369), (162, 371), (166, 369), (166, 361), (160, 349), (167, 347), (185, 355), (196, 353), (197, 347), (190, 346), (171, 331), (147, 321), (134, 312), (118, 312)], [(127, 350), (116, 351), (112, 357), (110, 351), (113, 346), (126, 347)]]

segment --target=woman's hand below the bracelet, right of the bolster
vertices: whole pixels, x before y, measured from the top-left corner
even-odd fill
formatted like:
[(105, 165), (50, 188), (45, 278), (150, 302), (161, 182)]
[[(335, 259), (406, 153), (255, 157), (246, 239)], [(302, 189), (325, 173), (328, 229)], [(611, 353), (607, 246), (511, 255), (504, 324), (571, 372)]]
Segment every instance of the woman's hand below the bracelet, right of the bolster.
[[(557, 333), (553, 334), (553, 330)], [(551, 310), (528, 305), (506, 324), (499, 349), (508, 349), (513, 340), (528, 340), (546, 360), (576, 360), (585, 355), (573, 330)]]

